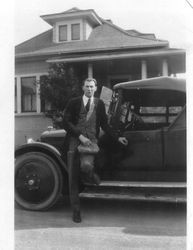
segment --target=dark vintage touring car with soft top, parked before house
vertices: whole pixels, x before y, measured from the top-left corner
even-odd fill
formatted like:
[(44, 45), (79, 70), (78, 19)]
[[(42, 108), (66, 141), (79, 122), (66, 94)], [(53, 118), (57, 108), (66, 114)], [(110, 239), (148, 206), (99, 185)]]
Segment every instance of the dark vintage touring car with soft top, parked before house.
[[(121, 146), (101, 135), (101, 184), (81, 183), (80, 196), (186, 202), (185, 80), (123, 82), (110, 96), (104, 100), (109, 124), (129, 143)], [(65, 141), (65, 130), (49, 129), (17, 148), (15, 200), (21, 207), (46, 210), (68, 194)]]

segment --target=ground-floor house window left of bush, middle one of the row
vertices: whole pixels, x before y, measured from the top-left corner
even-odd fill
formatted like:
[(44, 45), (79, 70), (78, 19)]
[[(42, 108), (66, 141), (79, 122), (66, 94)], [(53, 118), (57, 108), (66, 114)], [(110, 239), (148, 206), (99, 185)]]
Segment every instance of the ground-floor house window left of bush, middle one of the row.
[(36, 111), (36, 77), (21, 78), (22, 112)]

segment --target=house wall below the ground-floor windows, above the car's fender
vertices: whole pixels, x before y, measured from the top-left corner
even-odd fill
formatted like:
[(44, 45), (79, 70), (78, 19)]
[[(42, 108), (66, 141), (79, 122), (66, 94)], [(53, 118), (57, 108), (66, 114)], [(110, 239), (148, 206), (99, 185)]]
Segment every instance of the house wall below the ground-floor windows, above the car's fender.
[(51, 119), (44, 115), (16, 115), (15, 116), (15, 146), (26, 142), (28, 138), (38, 139), (48, 126)]

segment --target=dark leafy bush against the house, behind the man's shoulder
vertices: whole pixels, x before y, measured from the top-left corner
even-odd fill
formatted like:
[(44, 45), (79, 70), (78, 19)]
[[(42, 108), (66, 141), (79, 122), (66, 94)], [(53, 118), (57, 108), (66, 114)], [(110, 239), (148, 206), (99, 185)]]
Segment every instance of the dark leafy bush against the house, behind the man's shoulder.
[(49, 103), (49, 110), (42, 110), (53, 120), (55, 127), (61, 127), (62, 114), (67, 102), (81, 94), (81, 84), (72, 66), (64, 63), (51, 64), (48, 75), (39, 81), (42, 103)]

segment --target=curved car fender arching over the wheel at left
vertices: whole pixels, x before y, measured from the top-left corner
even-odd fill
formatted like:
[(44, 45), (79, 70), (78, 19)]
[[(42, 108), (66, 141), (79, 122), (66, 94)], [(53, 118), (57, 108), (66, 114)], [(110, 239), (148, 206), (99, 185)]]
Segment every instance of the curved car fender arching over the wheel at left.
[(68, 168), (64, 160), (62, 159), (62, 155), (60, 151), (54, 146), (45, 143), (45, 142), (30, 142), (23, 145), (20, 145), (15, 150), (15, 158), (29, 152), (42, 152), (51, 156), (62, 168), (68, 172)]

